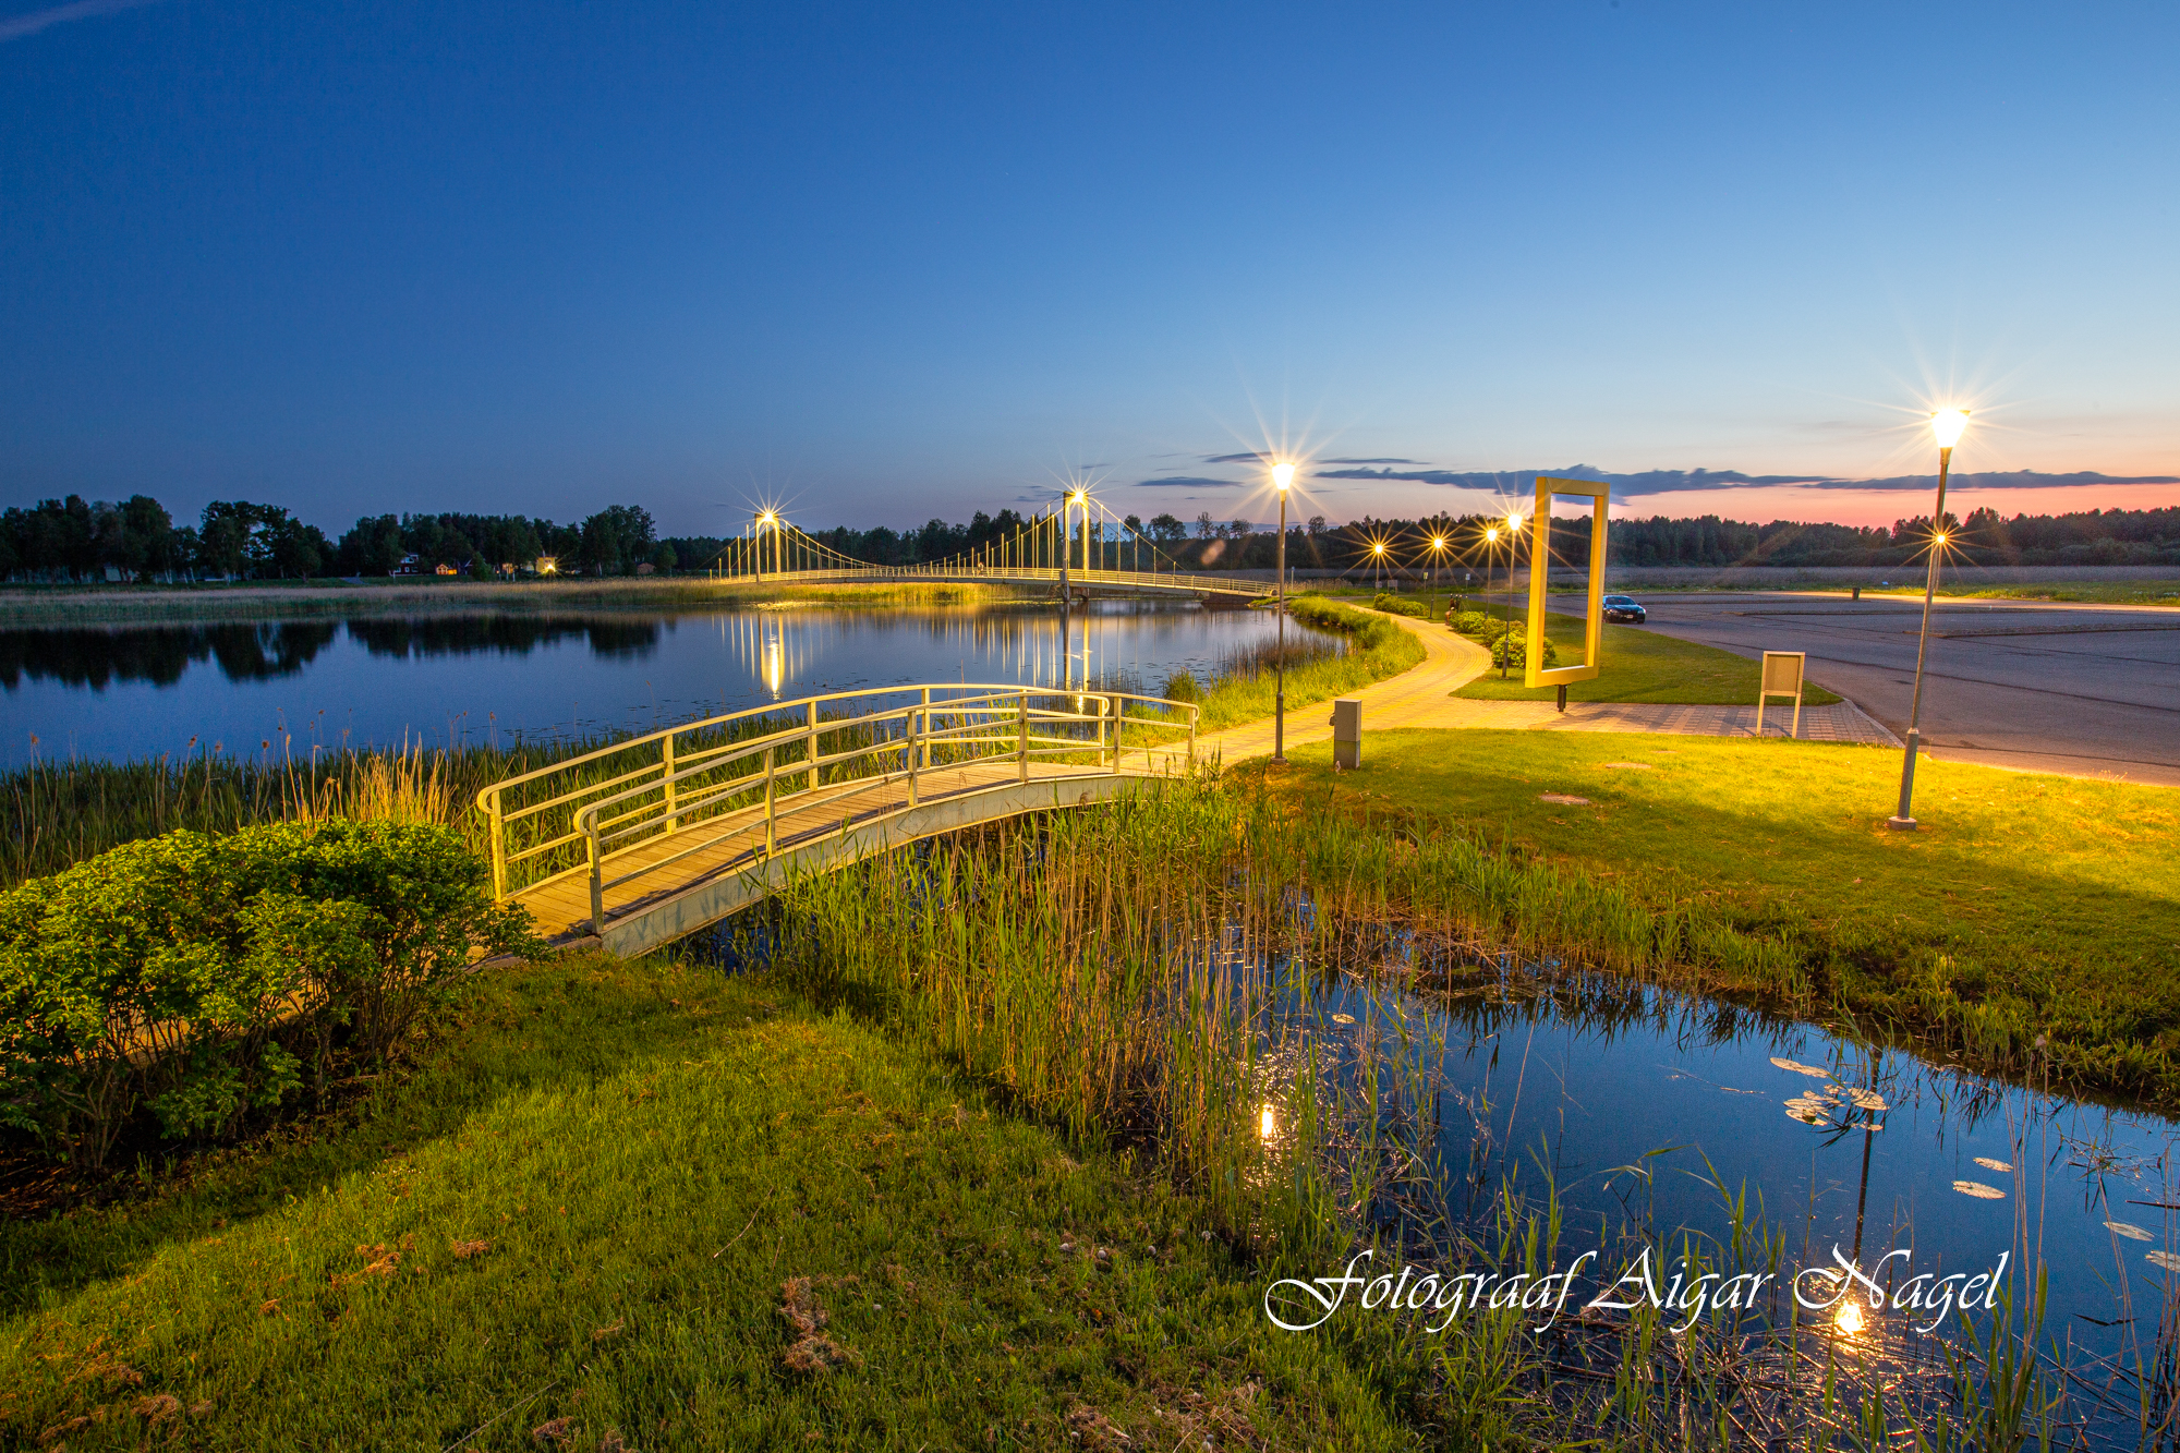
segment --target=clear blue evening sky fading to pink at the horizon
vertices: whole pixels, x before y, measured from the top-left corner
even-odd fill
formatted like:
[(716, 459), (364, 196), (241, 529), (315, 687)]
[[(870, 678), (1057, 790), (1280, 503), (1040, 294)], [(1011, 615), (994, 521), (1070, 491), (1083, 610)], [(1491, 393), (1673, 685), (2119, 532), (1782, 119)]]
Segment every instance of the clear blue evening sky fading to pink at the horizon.
[(1284, 447), (1905, 476), (1624, 502), (1892, 519), (1934, 401), (1971, 476), (2176, 476), (2176, 41), (2169, 4), (0, 0), (0, 502), (724, 532), (1086, 476), (1262, 517), (1208, 460)]

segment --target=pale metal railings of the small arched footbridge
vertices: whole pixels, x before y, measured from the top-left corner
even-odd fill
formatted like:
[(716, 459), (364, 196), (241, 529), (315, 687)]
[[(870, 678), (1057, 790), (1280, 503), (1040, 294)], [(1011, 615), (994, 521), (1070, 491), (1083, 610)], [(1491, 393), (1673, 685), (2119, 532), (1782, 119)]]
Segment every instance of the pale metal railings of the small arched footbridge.
[(1197, 718), (1195, 703), (1107, 689), (833, 692), (685, 722), (508, 777), (477, 792), (477, 812), (491, 831), (495, 897), (586, 877), (597, 925), (608, 890), (656, 881), (735, 838), (750, 840), (752, 857), (770, 855), (780, 820), (813, 803), (905, 779), (898, 812), (909, 812), (935, 770), (1012, 764), (1018, 783), (1040, 766), (1051, 777), (1062, 766), (1066, 774), (1086, 766), (1125, 772), (1134, 746), (1151, 772), (1158, 748), (1179, 746), (1182, 733), (1195, 761)]

